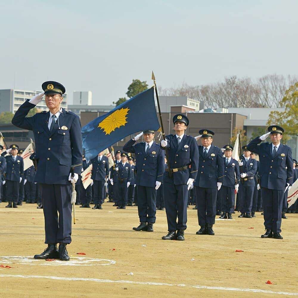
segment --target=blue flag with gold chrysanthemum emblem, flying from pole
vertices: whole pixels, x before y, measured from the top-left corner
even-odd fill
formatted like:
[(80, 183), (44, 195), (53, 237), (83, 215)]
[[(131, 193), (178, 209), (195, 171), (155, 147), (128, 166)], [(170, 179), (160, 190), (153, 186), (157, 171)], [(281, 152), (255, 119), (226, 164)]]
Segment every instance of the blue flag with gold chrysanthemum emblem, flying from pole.
[(147, 129), (157, 131), (159, 127), (152, 87), (82, 128), (85, 157), (90, 160), (130, 134)]

